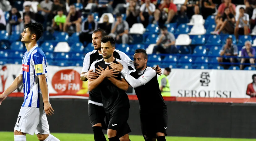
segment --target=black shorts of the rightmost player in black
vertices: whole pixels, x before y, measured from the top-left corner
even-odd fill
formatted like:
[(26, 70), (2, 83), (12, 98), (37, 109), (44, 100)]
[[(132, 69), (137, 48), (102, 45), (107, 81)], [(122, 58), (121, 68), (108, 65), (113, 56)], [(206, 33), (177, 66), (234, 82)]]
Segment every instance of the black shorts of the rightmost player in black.
[(156, 138), (156, 133), (164, 133), (167, 136), (167, 111), (140, 112), (140, 126), (145, 140)]

